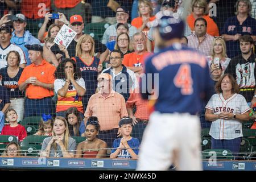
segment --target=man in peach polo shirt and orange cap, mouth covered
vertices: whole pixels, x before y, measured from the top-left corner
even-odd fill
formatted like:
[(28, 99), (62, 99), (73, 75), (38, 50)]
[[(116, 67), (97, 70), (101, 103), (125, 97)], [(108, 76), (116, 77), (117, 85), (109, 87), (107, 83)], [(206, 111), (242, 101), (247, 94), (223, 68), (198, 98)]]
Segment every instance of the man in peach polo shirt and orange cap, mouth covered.
[(108, 73), (101, 73), (98, 76), (98, 87), (100, 92), (92, 95), (84, 113), (84, 122), (91, 116), (96, 116), (101, 129), (98, 138), (113, 146), (117, 138), (118, 123), (121, 118), (128, 117), (125, 106), (125, 98), (112, 89), (112, 76)]

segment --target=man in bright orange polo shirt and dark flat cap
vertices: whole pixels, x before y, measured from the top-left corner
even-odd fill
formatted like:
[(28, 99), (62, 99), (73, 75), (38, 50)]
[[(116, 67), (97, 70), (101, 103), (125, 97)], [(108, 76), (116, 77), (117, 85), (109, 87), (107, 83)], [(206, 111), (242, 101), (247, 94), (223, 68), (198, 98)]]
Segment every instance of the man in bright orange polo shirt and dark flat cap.
[(53, 83), (55, 67), (43, 59), (43, 47), (39, 44), (26, 45), (31, 65), (24, 68), (18, 85), (21, 91), (26, 90), (24, 117), (55, 115), (53, 103)]

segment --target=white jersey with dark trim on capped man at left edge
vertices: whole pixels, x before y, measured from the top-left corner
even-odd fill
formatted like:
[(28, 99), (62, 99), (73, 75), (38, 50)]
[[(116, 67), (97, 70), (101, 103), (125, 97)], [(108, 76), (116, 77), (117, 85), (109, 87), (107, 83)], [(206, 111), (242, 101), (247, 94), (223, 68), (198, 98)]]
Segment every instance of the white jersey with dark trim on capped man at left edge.
[(2, 46), (0, 45), (0, 69), (7, 67), (6, 56), (7, 56), (7, 53), (9, 53), (10, 51), (17, 51), (19, 53), (19, 56), (20, 56), (19, 64), (27, 63), (24, 52), (19, 46), (15, 46), (14, 44), (10, 43), (9, 46), (3, 49)]

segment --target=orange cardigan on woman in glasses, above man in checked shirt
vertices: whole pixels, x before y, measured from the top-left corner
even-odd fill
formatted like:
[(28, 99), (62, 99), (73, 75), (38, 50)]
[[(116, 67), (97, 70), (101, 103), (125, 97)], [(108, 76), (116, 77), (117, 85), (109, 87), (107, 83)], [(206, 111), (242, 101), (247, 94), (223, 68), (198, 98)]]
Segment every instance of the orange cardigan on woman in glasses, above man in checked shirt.
[[(209, 15), (204, 15), (202, 18), (204, 18), (207, 21), (207, 34), (212, 35), (212, 36), (220, 36), (220, 33), (218, 31), (218, 26), (217, 24), (213, 21), (212, 18), (210, 18)], [(191, 31), (194, 31), (195, 29), (195, 18), (193, 14), (190, 14), (187, 17), (187, 23), (188, 26), (191, 28)]]

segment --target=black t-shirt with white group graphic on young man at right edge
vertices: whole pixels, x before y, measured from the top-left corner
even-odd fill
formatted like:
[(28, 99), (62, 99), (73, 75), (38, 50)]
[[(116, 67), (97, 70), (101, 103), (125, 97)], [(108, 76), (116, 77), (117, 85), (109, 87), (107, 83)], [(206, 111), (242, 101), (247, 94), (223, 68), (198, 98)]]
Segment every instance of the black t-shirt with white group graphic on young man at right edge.
[(255, 91), (255, 59), (252, 54), (247, 60), (242, 55), (236, 56), (230, 60), (225, 73), (230, 73), (236, 79), (240, 88), (240, 94), (245, 97), (247, 102), (251, 102)]

